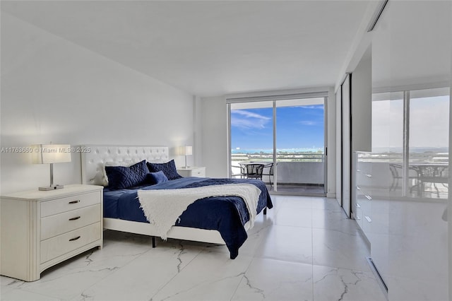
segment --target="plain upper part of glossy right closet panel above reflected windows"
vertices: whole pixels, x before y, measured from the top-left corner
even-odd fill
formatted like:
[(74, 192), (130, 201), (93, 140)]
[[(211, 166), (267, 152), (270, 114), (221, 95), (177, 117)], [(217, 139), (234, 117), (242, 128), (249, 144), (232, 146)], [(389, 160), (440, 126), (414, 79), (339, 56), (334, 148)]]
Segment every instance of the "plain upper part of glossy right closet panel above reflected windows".
[(452, 1), (389, 1), (372, 37), (374, 88), (450, 85), (451, 8)]

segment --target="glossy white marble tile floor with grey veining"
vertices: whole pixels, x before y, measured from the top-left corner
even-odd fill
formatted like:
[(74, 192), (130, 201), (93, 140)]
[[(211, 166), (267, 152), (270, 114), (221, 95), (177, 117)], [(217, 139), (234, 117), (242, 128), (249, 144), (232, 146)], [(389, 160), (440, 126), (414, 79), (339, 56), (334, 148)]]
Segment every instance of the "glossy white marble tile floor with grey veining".
[(334, 199), (272, 196), (231, 260), (225, 246), (105, 231), (104, 247), (34, 282), (1, 276), (1, 300), (386, 300), (354, 220)]

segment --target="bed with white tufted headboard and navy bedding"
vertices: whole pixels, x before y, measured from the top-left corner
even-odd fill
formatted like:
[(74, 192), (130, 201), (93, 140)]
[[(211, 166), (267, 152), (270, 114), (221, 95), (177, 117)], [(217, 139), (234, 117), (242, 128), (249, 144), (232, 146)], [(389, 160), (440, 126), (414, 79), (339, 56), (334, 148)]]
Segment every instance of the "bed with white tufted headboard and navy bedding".
[[(169, 148), (166, 146), (82, 146), (81, 165), (83, 184), (105, 186), (105, 169), (108, 165), (127, 166), (131, 164), (155, 163), (155, 166), (166, 166), (169, 163)], [(159, 172), (160, 173), (160, 172)], [(143, 213), (138, 191), (162, 189), (201, 190), (211, 185), (249, 184), (260, 190), (256, 200), (256, 214), (266, 213), (273, 204), (265, 183), (258, 179), (210, 179), (196, 177), (180, 177), (153, 185), (137, 185), (120, 189), (104, 189), (104, 228), (123, 232), (159, 237), (159, 231)], [(251, 184), (251, 185), (250, 185)], [(201, 188), (198, 188), (201, 187)], [(225, 188), (222, 187), (222, 188)], [(117, 187), (116, 187), (117, 188)], [(144, 192), (141, 192), (144, 194)], [(177, 240), (193, 240), (213, 244), (226, 244), (230, 258), (238, 255), (239, 247), (247, 238), (246, 231), (252, 225), (248, 204), (239, 196), (215, 196), (198, 199), (191, 203), (176, 220), (176, 225), (167, 232), (167, 238)], [(165, 237), (165, 238), (166, 238)]]

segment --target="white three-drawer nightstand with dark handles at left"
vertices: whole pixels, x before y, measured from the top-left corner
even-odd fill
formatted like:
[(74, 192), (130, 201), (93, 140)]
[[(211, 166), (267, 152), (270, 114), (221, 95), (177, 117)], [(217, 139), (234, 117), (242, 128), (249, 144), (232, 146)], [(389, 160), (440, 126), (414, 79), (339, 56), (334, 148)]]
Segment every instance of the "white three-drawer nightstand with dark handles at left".
[(1, 196), (1, 275), (35, 281), (50, 266), (102, 248), (102, 189), (74, 184)]

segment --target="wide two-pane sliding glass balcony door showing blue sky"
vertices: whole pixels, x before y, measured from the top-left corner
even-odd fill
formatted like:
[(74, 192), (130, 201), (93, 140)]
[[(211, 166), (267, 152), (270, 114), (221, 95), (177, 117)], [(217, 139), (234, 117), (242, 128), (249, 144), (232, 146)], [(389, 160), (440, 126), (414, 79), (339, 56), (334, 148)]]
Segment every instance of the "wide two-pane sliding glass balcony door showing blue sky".
[(325, 194), (325, 101), (231, 103), (232, 177), (246, 177), (246, 165), (258, 163), (273, 191)]

